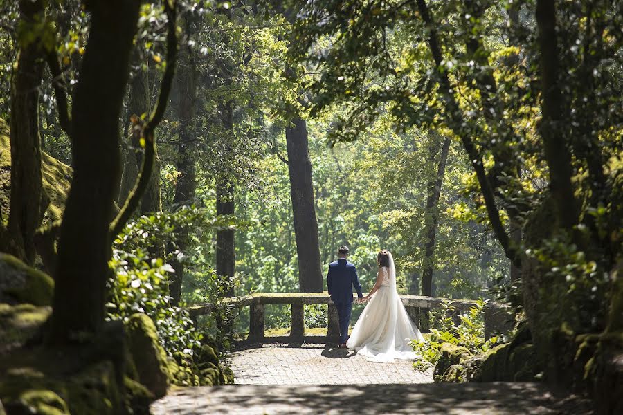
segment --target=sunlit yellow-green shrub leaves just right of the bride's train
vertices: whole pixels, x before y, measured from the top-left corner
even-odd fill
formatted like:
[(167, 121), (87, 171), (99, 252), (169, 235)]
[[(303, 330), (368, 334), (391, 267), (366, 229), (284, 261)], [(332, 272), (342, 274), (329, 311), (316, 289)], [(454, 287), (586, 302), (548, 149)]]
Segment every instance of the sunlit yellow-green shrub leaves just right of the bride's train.
[(444, 302), (437, 313), (433, 314), (435, 322), (431, 329), (431, 337), (428, 340), (410, 342), (413, 350), (422, 356), (413, 363), (413, 366), (418, 370), (435, 366), (442, 355), (444, 343), (464, 347), (472, 354), (484, 353), (500, 343), (497, 336), (485, 339), (484, 308), (488, 302), (478, 299), (467, 313), (458, 316), (459, 324), (453, 322), (455, 307), (452, 306), (452, 302)]

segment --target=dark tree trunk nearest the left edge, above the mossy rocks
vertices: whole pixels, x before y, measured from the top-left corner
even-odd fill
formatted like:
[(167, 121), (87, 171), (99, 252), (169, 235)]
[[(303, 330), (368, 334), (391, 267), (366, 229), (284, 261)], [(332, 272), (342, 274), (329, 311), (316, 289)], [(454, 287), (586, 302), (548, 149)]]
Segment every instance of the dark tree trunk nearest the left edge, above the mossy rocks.
[[(44, 17), (43, 1), (19, 2), (21, 19), (33, 24)], [(41, 39), (19, 50), (11, 89), (11, 200), (8, 232), (15, 255), (35, 261), (35, 231), (42, 220), (41, 136), (39, 90), (44, 60)]]

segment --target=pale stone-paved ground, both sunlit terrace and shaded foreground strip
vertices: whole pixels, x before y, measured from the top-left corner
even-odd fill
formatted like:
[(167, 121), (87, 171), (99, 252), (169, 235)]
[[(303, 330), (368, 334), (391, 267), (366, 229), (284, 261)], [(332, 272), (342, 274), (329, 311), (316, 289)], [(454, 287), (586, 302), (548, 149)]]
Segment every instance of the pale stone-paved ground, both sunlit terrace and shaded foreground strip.
[(410, 362), (373, 363), (318, 344), (235, 351), (229, 364), (237, 385), (173, 389), (152, 414), (592, 413), (590, 402), (539, 383), (432, 383)]

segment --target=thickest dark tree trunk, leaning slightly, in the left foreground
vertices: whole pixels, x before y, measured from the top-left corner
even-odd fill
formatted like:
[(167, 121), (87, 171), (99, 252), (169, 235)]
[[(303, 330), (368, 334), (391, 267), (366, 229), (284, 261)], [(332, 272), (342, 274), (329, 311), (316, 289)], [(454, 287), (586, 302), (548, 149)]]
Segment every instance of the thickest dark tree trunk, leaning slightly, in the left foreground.
[(72, 106), (73, 183), (60, 230), (49, 341), (79, 340), (104, 322), (110, 223), (119, 183), (119, 115), (139, 0), (87, 2), (89, 45)]

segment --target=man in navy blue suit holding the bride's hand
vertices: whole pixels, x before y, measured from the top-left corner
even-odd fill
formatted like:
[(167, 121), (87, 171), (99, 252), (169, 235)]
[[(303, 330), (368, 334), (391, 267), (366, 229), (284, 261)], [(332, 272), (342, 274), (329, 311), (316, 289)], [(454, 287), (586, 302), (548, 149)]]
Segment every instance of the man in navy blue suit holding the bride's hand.
[(329, 264), (327, 275), (329, 295), (331, 295), (340, 317), (340, 345), (338, 347), (346, 347), (352, 309), (352, 286), (355, 287), (359, 297), (357, 302), (363, 297), (357, 270), (354, 268), (354, 264), (346, 259), (347, 257), (348, 247), (343, 245), (338, 249), (338, 260)]

